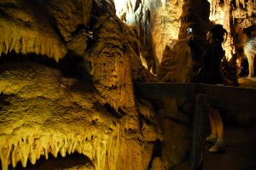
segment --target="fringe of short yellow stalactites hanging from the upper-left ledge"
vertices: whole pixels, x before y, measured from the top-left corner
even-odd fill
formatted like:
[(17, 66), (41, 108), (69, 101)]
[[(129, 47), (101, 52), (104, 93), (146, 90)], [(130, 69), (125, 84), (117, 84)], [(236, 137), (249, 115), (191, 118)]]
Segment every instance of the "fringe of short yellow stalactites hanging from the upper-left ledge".
[(0, 34), (0, 56), (15, 51), (16, 54), (47, 55), (58, 62), (67, 54), (67, 48), (54, 32), (20, 28), (5, 19), (0, 19), (0, 31), (4, 32)]

